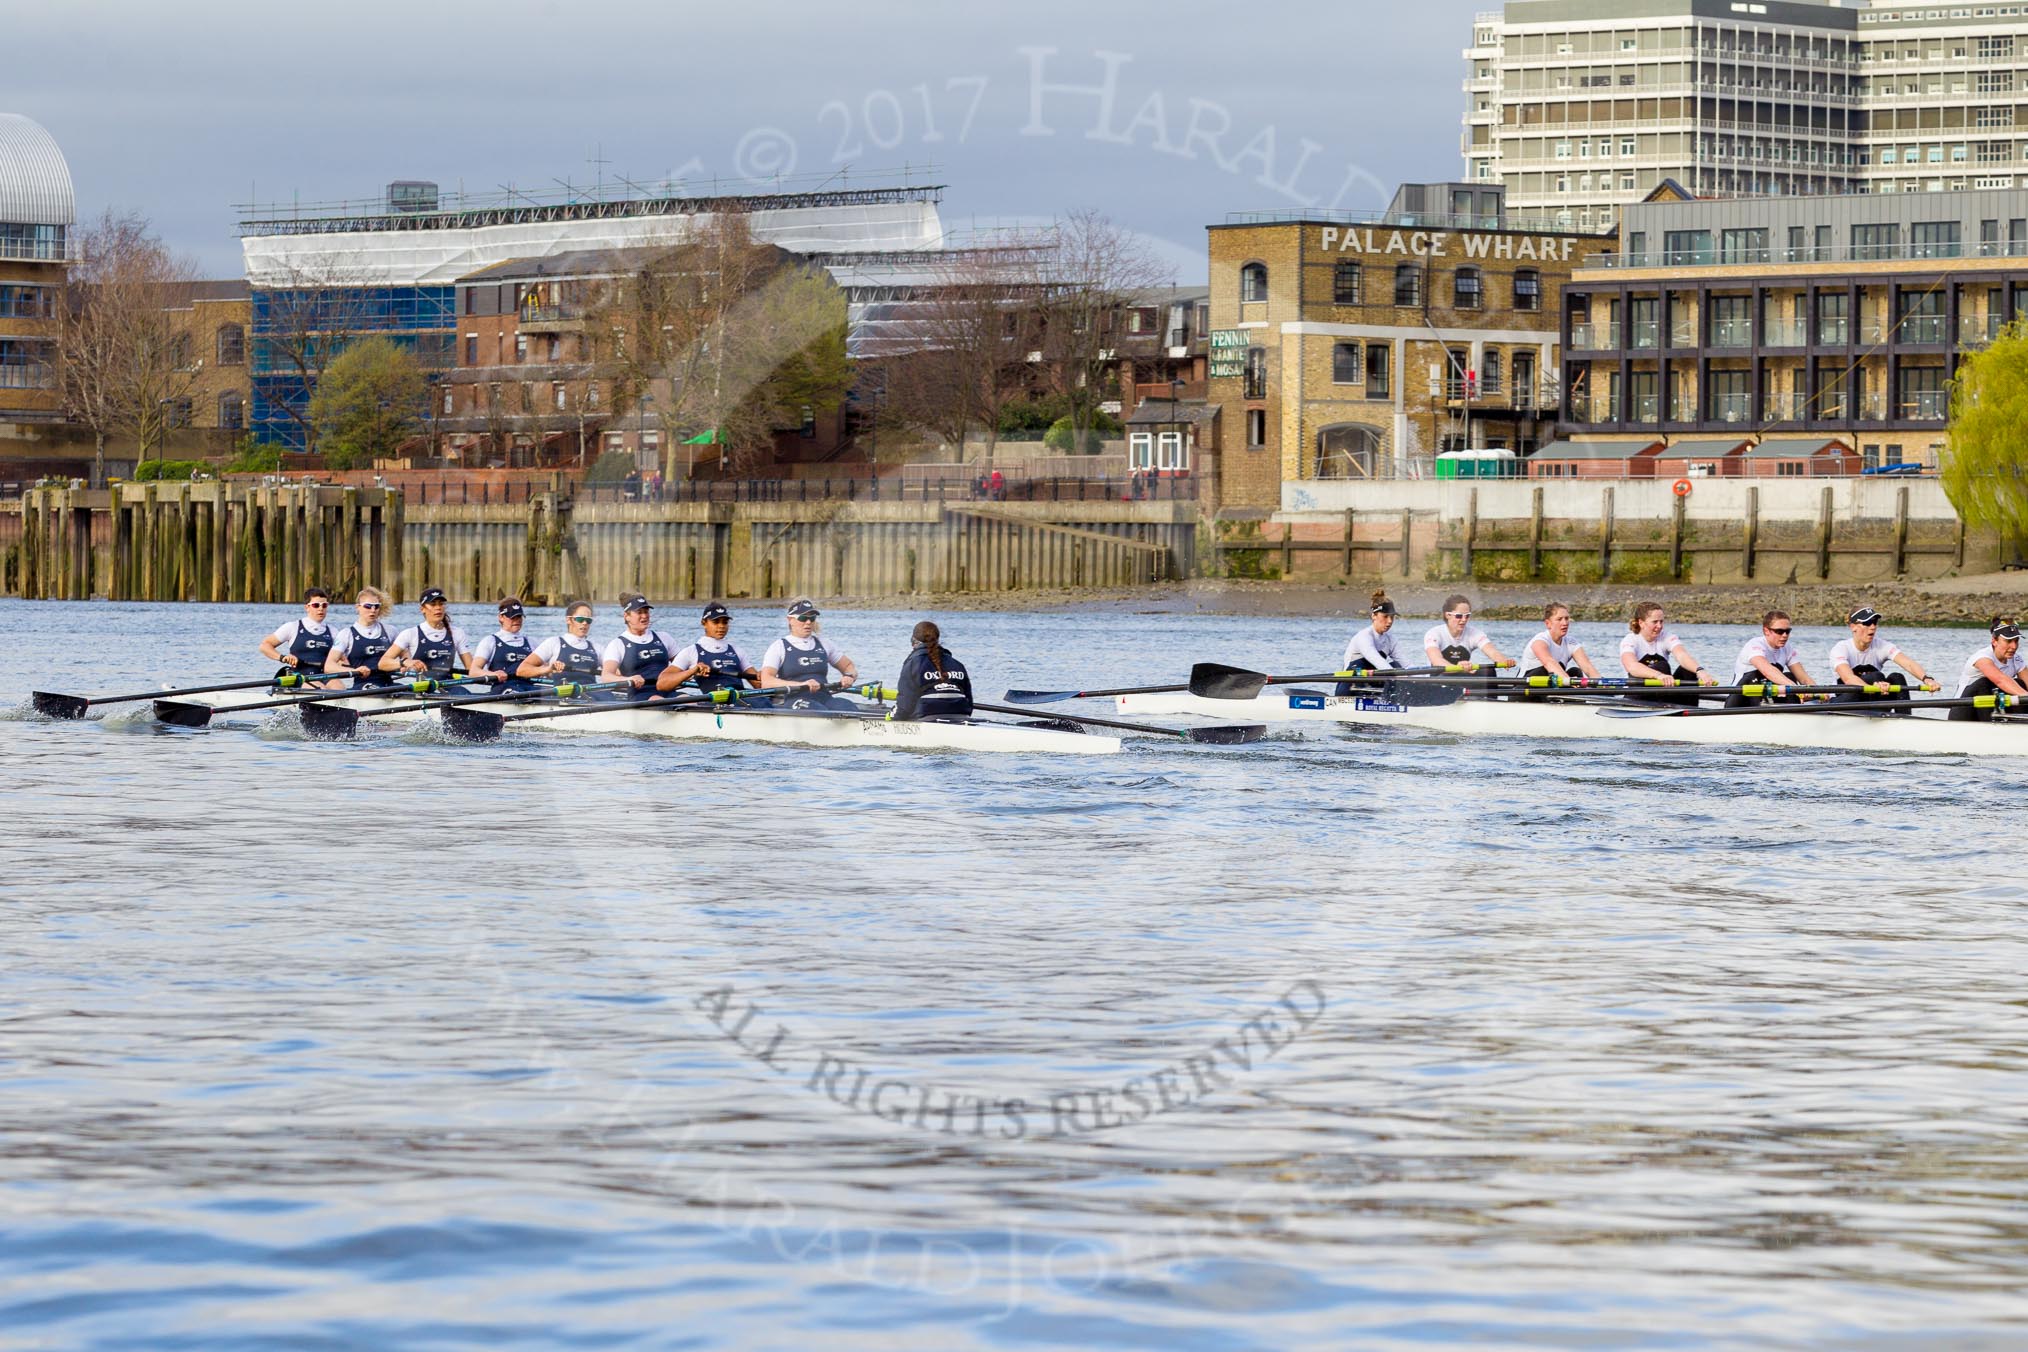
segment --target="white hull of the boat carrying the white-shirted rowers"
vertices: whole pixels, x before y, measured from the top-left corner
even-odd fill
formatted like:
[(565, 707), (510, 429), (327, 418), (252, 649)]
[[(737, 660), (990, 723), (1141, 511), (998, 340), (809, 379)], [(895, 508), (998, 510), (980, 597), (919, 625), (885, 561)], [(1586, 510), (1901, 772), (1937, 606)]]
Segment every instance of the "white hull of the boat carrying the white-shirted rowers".
[(1904, 756), (2028, 756), (2028, 728), (1953, 724), (1935, 713), (1866, 718), (1852, 713), (1740, 713), (1687, 718), (1614, 716), (1580, 703), (1460, 699), (1403, 707), (1365, 695), (1318, 695), (1270, 687), (1253, 699), (1203, 695), (1119, 695), (1121, 713), (1243, 718), (1255, 724), (1355, 724), (1422, 728), (1458, 736), (1582, 738), (1614, 742), (1691, 742), (1701, 746), (1795, 746), (1813, 750), (1894, 752)]

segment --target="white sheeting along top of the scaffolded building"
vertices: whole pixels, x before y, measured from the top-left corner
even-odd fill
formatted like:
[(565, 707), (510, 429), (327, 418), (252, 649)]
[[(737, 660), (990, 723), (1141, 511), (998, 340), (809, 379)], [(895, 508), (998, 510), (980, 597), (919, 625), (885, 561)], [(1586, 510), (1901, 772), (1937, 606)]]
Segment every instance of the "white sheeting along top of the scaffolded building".
[[(643, 215), (446, 229), (245, 235), (247, 282), (282, 286), (450, 286), (458, 278), (523, 257), (578, 249), (681, 243), (710, 215)], [(882, 253), (937, 249), (943, 221), (933, 201), (789, 207), (748, 213), (756, 239), (791, 253)]]

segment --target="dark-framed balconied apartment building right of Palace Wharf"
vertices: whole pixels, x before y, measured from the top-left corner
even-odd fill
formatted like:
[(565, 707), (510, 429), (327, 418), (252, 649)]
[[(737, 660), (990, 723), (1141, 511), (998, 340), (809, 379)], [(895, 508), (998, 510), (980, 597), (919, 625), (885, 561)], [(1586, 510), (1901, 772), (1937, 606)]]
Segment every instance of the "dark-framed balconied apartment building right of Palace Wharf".
[(1628, 207), (1564, 290), (1564, 436), (1835, 436), (1935, 464), (1961, 355), (2028, 316), (2028, 189)]

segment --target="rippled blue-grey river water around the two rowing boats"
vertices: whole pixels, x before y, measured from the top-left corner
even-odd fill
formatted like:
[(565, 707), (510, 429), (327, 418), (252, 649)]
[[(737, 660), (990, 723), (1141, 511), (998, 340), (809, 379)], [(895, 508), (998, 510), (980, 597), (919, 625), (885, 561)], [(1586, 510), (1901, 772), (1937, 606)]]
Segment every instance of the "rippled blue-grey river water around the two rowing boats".
[[(290, 614), (0, 602), (0, 703), (258, 673)], [(890, 673), (913, 618), (825, 632)], [(1347, 636), (945, 628), (992, 693)], [(0, 1346), (2028, 1340), (2028, 758), (0, 756)]]

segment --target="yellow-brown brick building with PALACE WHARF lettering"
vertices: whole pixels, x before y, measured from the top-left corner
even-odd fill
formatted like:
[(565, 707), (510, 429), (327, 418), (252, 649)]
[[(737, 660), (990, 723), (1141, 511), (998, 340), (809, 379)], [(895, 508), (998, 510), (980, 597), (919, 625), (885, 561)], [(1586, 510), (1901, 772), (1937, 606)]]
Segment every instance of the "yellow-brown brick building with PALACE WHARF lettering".
[[(1436, 211), (1422, 211), (1436, 203)], [(1523, 225), (1497, 186), (1411, 184), (1377, 219), (1211, 227), (1219, 509), (1284, 484), (1428, 472), (1442, 450), (1549, 440), (1558, 298), (1610, 235)]]

